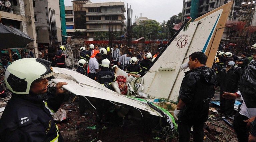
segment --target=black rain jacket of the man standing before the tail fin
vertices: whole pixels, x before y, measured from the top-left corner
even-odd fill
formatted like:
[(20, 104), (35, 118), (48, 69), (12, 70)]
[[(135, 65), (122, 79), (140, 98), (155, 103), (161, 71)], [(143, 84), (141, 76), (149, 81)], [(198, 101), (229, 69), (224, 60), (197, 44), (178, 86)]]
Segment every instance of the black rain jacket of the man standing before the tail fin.
[(181, 108), (178, 119), (186, 124), (207, 121), (209, 103), (214, 93), (215, 73), (207, 66), (187, 71), (182, 80), (179, 99), (186, 105)]

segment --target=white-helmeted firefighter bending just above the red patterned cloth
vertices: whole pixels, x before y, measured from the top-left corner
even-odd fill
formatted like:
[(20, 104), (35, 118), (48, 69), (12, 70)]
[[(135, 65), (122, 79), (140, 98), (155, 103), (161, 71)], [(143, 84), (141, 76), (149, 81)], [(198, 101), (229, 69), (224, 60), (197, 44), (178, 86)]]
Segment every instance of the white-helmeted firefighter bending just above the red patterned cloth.
[(132, 57), (130, 60), (131, 64), (126, 67), (125, 72), (130, 74), (139, 74), (140, 72), (142, 72), (141, 66), (138, 64), (138, 61), (139, 59), (137, 57)]

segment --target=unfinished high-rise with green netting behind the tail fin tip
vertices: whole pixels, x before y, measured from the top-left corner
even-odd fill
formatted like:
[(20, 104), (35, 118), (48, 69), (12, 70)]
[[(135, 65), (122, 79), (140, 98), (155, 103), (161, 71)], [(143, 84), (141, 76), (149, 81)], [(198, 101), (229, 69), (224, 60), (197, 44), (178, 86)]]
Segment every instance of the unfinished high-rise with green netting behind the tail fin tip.
[[(200, 17), (230, 0), (183, 0), (182, 21), (186, 17)], [(256, 42), (256, 16), (254, 0), (234, 0), (227, 19), (221, 43), (228, 45), (227, 51), (253, 52), (251, 45)]]

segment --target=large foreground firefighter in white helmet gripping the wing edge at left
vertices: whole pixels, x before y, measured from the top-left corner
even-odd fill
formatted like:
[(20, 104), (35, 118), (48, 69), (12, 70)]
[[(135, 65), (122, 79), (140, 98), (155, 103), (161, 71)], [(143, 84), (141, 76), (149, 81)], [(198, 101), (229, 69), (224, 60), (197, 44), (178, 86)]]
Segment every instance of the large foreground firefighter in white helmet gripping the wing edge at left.
[[(33, 68), (33, 69), (31, 69)], [(54, 75), (51, 62), (41, 58), (24, 58), (14, 61), (5, 72), (5, 84), (12, 98), (0, 119), (1, 141), (63, 141), (52, 115), (64, 100), (65, 82), (47, 98), (47, 77)]]

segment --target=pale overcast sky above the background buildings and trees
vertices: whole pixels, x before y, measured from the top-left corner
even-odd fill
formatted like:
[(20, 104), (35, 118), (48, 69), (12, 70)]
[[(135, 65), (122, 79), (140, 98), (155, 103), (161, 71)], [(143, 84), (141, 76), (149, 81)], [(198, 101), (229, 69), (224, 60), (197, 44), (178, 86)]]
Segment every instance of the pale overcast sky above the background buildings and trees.
[[(72, 6), (73, 0), (65, 0), (65, 6)], [(128, 7), (133, 10), (133, 21), (136, 17), (147, 17), (148, 19), (156, 20), (161, 23), (163, 20), (166, 22), (173, 15), (178, 15), (182, 12), (183, 0), (91, 0), (92, 3), (101, 2), (124, 2), (126, 10)], [(126, 17), (126, 13), (125, 13)]]

